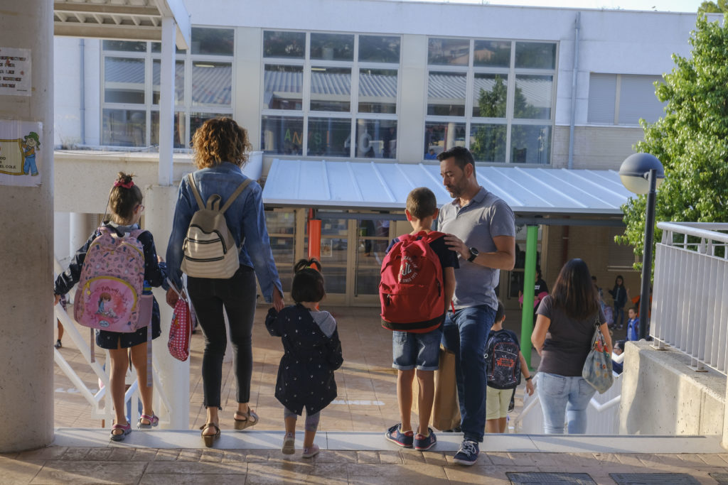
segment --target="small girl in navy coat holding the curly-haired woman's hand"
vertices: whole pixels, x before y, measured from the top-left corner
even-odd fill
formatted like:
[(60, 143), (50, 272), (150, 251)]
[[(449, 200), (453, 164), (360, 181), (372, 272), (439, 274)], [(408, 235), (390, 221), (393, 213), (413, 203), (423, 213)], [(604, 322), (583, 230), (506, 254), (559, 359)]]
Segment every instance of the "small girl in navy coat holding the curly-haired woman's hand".
[(275, 386), (275, 397), (285, 406), (281, 451), (296, 452), (296, 419), (305, 407), (304, 458), (319, 452), (314, 436), (320, 411), (336, 398), (333, 371), (344, 361), (336, 320), (328, 311), (317, 310), (326, 292), (323, 276), (311, 267), (314, 263), (319, 265), (316, 260), (300, 260), (294, 267), (291, 296), (296, 305), (285, 307), (280, 313), (271, 308), (266, 317), (268, 332), (281, 337), (284, 350)]

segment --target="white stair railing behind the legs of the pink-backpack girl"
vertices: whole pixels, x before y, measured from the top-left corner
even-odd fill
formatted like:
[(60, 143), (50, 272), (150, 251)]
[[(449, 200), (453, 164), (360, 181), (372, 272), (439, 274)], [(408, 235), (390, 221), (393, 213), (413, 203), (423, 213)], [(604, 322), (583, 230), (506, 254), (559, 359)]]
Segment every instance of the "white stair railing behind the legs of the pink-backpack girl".
[[(62, 271), (63, 268), (60, 267), (58, 260), (55, 260), (55, 272), (59, 274)], [(105, 426), (111, 426), (111, 423), (114, 422), (114, 405), (111, 402), (111, 393), (106, 392), (106, 389), (108, 389), (109, 386), (110, 366), (107, 366), (107, 369), (105, 370), (98, 361), (92, 362), (91, 348), (89, 345), (90, 333), (84, 332), (82, 334), (82, 332), (79, 332), (74, 318), (68, 315), (68, 313), (66, 313), (66, 310), (63, 310), (63, 307), (61, 307), (60, 305), (55, 305), (54, 310), (55, 318), (58, 318), (60, 320), (60, 323), (63, 324), (64, 337), (70, 337), (71, 340), (74, 341), (74, 344), (76, 344), (76, 348), (78, 348), (79, 352), (84, 357), (86, 364), (90, 366), (91, 370), (98, 378), (98, 383), (102, 384), (101, 388), (96, 390), (98, 385), (92, 386), (90, 388), (87, 383), (84, 382), (81, 377), (79, 377), (79, 374), (76, 373), (73, 366), (71, 366), (71, 364), (68, 364), (66, 358), (63, 357), (63, 353), (61, 353), (58, 349), (55, 349), (53, 353), (55, 364), (61, 369), (61, 371), (63, 371), (63, 374), (66, 374), (66, 377), (71, 380), (71, 383), (76, 387), (77, 390), (79, 390), (79, 393), (86, 399), (88, 404), (90, 404), (92, 417), (103, 420)], [(100, 353), (101, 349), (97, 348), (96, 352)], [(103, 352), (106, 353), (105, 361), (109, 362), (108, 351), (103, 350)], [(163, 408), (162, 410), (166, 411), (163, 412), (161, 415), (170, 416), (172, 407), (170, 406), (169, 399), (167, 398), (167, 396), (165, 396), (165, 393), (163, 392), (163, 387), (159, 382), (159, 377), (157, 377), (157, 368), (159, 367), (159, 365), (157, 364), (157, 358), (156, 356), (154, 356), (154, 354), (152, 355), (152, 360), (153, 369), (151, 374), (154, 378), (155, 405), (158, 401)], [(127, 371), (126, 376), (126, 382), (130, 387), (124, 394), (124, 407), (130, 407), (129, 418), (130, 422), (134, 424), (139, 419), (139, 409), (138, 405), (136, 405), (139, 402), (139, 390), (136, 380), (136, 373), (133, 369), (133, 366), (129, 366), (129, 370)], [(128, 405), (130, 402), (133, 403), (132, 406)], [(155, 411), (157, 410), (155, 409)], [(159, 412), (157, 414), (159, 414)], [(159, 420), (160, 424), (162, 425), (168, 424), (167, 421), (168, 420), (164, 419)]]

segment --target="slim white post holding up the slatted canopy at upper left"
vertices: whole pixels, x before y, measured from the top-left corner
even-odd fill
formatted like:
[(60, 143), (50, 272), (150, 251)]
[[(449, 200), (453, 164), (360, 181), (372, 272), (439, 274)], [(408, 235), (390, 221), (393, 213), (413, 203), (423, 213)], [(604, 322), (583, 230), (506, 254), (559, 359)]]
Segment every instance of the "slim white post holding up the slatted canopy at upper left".
[(162, 59), (159, 66), (159, 185), (173, 180), (173, 129), (175, 126), (175, 39), (177, 24), (162, 17)]

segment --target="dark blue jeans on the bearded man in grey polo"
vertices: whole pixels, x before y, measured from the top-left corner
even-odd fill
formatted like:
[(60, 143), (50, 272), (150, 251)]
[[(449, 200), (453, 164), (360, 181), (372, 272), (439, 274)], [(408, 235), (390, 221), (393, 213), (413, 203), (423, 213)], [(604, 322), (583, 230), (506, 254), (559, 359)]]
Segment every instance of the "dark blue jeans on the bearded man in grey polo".
[(486, 341), (496, 310), (488, 305), (448, 312), (443, 346), (455, 352), (455, 377), (463, 438), (483, 442), (486, 428)]

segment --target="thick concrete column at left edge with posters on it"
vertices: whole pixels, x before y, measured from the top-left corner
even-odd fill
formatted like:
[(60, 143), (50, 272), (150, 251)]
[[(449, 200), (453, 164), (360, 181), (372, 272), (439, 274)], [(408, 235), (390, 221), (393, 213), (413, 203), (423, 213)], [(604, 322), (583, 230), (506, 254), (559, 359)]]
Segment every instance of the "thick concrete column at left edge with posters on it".
[(14, 452), (53, 439), (53, 2), (4, 1), (0, 47), (32, 63), (32, 95), (0, 95), (0, 119), (43, 124), (41, 185), (0, 187), (0, 452)]

